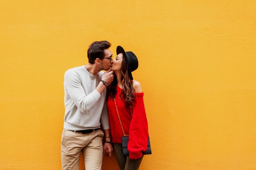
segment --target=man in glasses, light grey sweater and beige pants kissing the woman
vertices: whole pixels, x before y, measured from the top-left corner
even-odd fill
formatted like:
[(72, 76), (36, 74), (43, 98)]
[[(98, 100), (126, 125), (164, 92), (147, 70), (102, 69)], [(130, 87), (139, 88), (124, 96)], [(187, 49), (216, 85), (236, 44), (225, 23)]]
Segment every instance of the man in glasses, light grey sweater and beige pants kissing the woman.
[[(105, 99), (106, 86), (113, 81), (110, 46), (108, 41), (93, 42), (87, 51), (88, 64), (65, 72), (65, 116), (61, 137), (63, 170), (78, 170), (81, 152), (86, 170), (101, 170), (104, 152), (111, 156), (112, 145)], [(101, 70), (107, 71), (103, 73)], [(104, 134), (99, 129), (101, 124), (106, 135), (104, 146)]]

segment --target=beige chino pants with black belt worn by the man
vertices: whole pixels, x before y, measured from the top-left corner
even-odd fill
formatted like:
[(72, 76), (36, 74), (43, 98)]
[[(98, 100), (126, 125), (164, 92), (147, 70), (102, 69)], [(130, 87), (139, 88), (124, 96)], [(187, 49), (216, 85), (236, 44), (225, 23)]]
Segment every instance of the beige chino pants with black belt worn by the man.
[(64, 129), (61, 137), (62, 170), (78, 170), (81, 152), (86, 170), (101, 170), (103, 136), (101, 130), (82, 134)]

